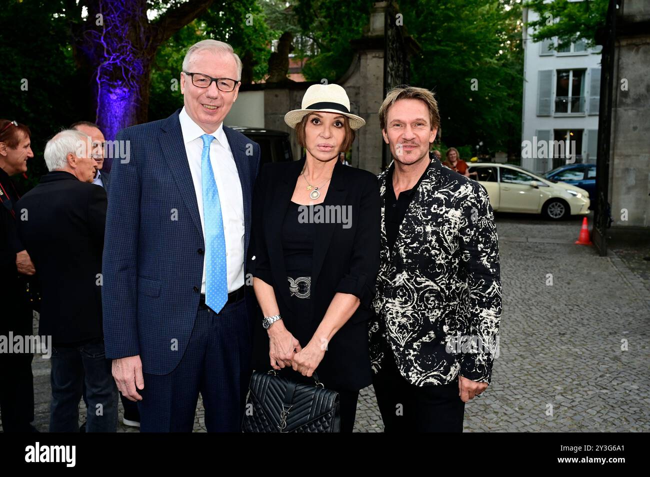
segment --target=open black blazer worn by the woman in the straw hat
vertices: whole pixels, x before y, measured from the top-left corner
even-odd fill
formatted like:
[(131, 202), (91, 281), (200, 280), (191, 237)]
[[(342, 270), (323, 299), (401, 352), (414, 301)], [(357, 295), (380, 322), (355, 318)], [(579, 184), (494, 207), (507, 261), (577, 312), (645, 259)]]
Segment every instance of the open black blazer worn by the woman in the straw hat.
[[(274, 288), (280, 313), (289, 331), (294, 316), (281, 241), (282, 224), (305, 161), (266, 164), (253, 193), (253, 275)], [(316, 369), (318, 378), (333, 389), (361, 389), (370, 384), (367, 320), (372, 314), (374, 282), (380, 265), (381, 205), (377, 178), (365, 170), (337, 162), (323, 205), (350, 206), (349, 228), (318, 224), (313, 251), (311, 335), (298, 337), (305, 346), (318, 328), (337, 292), (354, 294), (361, 305), (334, 335)], [(268, 337), (258, 316), (253, 363), (270, 368)]]

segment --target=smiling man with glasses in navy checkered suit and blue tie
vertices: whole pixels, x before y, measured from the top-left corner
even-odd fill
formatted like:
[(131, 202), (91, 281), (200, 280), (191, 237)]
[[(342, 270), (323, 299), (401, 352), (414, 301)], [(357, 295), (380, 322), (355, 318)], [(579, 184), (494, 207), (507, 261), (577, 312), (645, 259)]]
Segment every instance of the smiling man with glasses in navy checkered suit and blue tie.
[(242, 63), (203, 40), (181, 72), (184, 107), (118, 133), (103, 255), (106, 356), (143, 432), (237, 432), (248, 385), (244, 263), (259, 145), (223, 125)]

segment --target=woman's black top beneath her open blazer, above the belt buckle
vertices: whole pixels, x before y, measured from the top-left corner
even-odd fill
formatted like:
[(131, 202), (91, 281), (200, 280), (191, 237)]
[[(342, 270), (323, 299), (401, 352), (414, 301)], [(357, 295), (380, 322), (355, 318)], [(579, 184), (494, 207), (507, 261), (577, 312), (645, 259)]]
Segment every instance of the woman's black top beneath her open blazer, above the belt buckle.
[(311, 257), (314, 253), (313, 226), (300, 220), (304, 205), (289, 203), (282, 224), (282, 248), (288, 277), (311, 276)]

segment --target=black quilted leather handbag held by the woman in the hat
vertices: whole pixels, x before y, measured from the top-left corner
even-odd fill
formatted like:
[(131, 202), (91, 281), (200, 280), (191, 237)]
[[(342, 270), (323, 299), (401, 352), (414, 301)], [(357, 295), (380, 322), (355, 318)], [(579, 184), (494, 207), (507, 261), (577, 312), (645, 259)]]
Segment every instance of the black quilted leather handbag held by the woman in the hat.
[(341, 432), (339, 393), (314, 383), (300, 383), (274, 370), (253, 372), (246, 400), (243, 432)]

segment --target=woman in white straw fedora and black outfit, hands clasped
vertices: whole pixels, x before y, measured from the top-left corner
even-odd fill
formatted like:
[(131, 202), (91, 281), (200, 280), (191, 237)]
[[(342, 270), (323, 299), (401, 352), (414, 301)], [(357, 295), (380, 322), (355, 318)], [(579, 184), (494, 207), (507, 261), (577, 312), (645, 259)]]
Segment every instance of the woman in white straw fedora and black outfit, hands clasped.
[(270, 365), (290, 378), (316, 371), (339, 393), (341, 431), (352, 432), (359, 390), (372, 381), (367, 320), (380, 264), (380, 196), (374, 174), (338, 158), (365, 121), (350, 112), (341, 86), (314, 84), (285, 122), (306, 154), (266, 164), (253, 194), (251, 264), (264, 315), (255, 325), (255, 368)]

